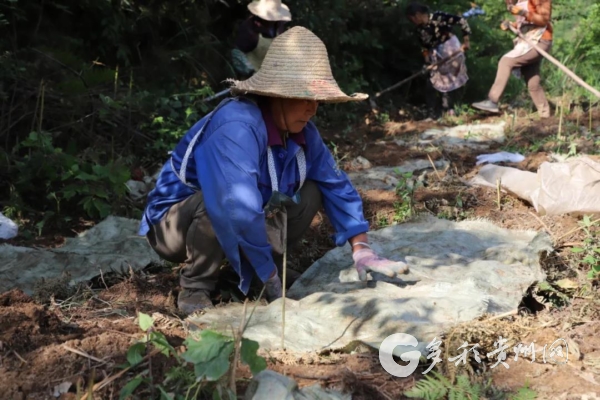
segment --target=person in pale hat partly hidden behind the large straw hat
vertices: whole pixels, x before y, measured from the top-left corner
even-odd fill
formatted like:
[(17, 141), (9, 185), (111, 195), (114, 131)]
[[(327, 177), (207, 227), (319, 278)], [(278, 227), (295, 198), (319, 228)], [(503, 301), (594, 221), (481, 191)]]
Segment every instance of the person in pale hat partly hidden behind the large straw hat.
[(250, 77), (260, 69), (271, 42), (292, 20), (289, 7), (281, 0), (252, 1), (248, 10), (252, 15), (238, 28), (232, 52), (234, 66), (242, 77)]

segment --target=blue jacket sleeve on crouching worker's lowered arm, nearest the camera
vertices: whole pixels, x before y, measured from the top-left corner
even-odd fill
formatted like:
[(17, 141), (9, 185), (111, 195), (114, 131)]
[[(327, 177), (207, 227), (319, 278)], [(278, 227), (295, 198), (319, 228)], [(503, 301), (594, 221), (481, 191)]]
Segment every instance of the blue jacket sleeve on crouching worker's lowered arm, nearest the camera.
[(206, 212), (226, 257), (242, 263), (243, 254), (263, 282), (275, 268), (258, 189), (264, 146), (249, 125), (227, 122), (194, 152)]

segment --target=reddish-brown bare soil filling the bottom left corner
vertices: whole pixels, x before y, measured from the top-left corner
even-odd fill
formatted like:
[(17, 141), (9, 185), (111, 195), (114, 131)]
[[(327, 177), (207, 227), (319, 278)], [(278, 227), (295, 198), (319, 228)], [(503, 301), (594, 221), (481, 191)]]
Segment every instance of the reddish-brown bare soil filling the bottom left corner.
[[(108, 280), (107, 277), (106, 280)], [(114, 280), (114, 277), (110, 279)], [(177, 318), (173, 273), (135, 275), (104, 290), (79, 292), (51, 306), (36, 303), (20, 290), (0, 295), (0, 396), (2, 399), (48, 399), (60, 384), (73, 395), (115, 373), (126, 362), (127, 350), (141, 337), (135, 321), (138, 312), (153, 315), (170, 343), (185, 337)], [(164, 375), (168, 360), (156, 357), (157, 375)], [(131, 377), (114, 383), (122, 387)], [(98, 392), (110, 397), (111, 385)]]

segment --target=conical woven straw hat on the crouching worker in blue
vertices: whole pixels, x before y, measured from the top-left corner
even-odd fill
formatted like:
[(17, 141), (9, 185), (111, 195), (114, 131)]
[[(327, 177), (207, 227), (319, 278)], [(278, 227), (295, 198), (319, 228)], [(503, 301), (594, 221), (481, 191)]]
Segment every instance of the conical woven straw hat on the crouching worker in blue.
[(317, 100), (323, 103), (361, 101), (369, 96), (342, 92), (331, 73), (327, 49), (306, 28), (296, 26), (276, 37), (261, 68), (245, 81), (233, 81), (231, 93)]

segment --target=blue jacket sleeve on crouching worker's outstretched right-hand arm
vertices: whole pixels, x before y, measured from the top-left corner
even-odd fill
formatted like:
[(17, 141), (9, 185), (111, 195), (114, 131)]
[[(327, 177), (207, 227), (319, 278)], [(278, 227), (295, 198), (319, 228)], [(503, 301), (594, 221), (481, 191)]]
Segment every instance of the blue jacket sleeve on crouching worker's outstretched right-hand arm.
[(310, 159), (306, 178), (319, 186), (323, 208), (336, 232), (333, 239), (336, 246), (343, 246), (350, 238), (369, 231), (362, 200), (312, 123), (307, 126), (305, 137)]

